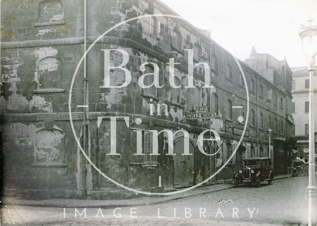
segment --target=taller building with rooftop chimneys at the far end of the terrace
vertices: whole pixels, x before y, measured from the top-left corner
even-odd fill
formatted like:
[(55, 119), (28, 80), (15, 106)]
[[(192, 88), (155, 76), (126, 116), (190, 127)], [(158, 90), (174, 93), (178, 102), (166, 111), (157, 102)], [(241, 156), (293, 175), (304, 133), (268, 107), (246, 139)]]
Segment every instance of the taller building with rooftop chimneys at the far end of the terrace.
[[(272, 119), (268, 125), (272, 130), (274, 172), (282, 173), (285, 167), (290, 167), (289, 159), (292, 158), (292, 151), (289, 148), (288, 150), (285, 149), (285, 145), (288, 147), (290, 142), (285, 140), (285, 138), (290, 138), (294, 134), (294, 120), (291, 116), (292, 72), (286, 59), (279, 61), (269, 54), (257, 53), (255, 47), (252, 48), (250, 58), (246, 59), (245, 63), (279, 88), (279, 90), (274, 90), (266, 87), (265, 83), (260, 84), (260, 87), (264, 86), (263, 88), (267, 89), (269, 102), (276, 106), (273, 109), (268, 108), (267, 111), (274, 112), (285, 119), (283, 121), (286, 124), (285, 137), (280, 136), (280, 122), (276, 122), (276, 119)], [(260, 89), (263, 88), (261, 87)], [(285, 109), (283, 109), (284, 105)]]

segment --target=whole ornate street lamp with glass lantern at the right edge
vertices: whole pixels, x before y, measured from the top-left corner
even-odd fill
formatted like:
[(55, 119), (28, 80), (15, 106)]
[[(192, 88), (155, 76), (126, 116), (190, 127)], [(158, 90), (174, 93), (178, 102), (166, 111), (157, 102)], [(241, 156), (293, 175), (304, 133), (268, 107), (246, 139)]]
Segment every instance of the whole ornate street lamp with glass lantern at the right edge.
[(313, 75), (315, 71), (315, 56), (317, 54), (317, 26), (313, 25), (313, 20), (308, 20), (309, 26), (301, 25), (299, 36), (302, 39), (302, 50), (308, 57), (309, 71), (309, 183), (308, 191), (308, 225), (316, 225), (316, 196), (317, 187), (315, 179), (315, 143), (314, 143), (314, 87)]

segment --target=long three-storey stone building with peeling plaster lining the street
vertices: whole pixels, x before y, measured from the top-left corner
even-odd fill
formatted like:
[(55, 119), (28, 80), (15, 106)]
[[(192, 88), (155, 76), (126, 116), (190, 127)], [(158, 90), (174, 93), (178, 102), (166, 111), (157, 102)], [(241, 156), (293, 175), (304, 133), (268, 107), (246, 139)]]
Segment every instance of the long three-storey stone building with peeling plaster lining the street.
[[(158, 0), (87, 1), (87, 5), (85, 0), (1, 1), (1, 187), (5, 193), (39, 198), (138, 196), (109, 181), (97, 168), (124, 186), (151, 192), (190, 187), (210, 177), (236, 149), (247, 118), (246, 85), (235, 59), (207, 32), (185, 20), (151, 16), (122, 23), (101, 37), (74, 75), (85, 49), (112, 26), (140, 15), (175, 15)], [(122, 53), (128, 53), (124, 68), (131, 73), (131, 82), (127, 86), (103, 87), (107, 49), (120, 50), (111, 51), (111, 67), (118, 67)], [(250, 96), (243, 141), (211, 181), (231, 178), (244, 157), (271, 156), (274, 173), (287, 172), (292, 155), (287, 139), (294, 131), (291, 73), (286, 61), (270, 56), (265, 67), (254, 67), (256, 56), (239, 62)], [(179, 88), (170, 85), (169, 59), (174, 59), (174, 83)], [(146, 62), (153, 64), (140, 67)], [(192, 64), (198, 65), (193, 70), (194, 87), (189, 88)], [(162, 87), (141, 88), (140, 76), (155, 73), (155, 65)], [(204, 87), (208, 73), (211, 88)], [(122, 69), (110, 70), (110, 85), (124, 84), (125, 75)], [(150, 76), (145, 79), (146, 84), (153, 81)], [(208, 107), (215, 117), (190, 119), (196, 107)], [(96, 168), (77, 145), (69, 109), (76, 137)], [(128, 117), (116, 121), (117, 155), (109, 155), (114, 147), (113, 125), (109, 118), (101, 118), (111, 116)], [(270, 152), (269, 128), (273, 129)], [(168, 140), (163, 133), (158, 137), (159, 155), (150, 154), (154, 140), (149, 131), (167, 129), (188, 132), (192, 155), (181, 155), (186, 141), (182, 133), (173, 138), (176, 155), (166, 155)], [(204, 150), (217, 151), (215, 155), (203, 154), (197, 147), (199, 134), (207, 129), (221, 138), (204, 142)], [(143, 155), (135, 155), (137, 145)]]

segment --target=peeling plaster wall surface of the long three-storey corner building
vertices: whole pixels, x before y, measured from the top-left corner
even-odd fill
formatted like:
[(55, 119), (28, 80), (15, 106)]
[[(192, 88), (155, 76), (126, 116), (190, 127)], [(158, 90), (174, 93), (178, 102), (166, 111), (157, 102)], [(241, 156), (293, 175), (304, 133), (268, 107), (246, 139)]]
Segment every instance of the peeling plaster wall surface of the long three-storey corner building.
[[(57, 189), (64, 197), (79, 197), (83, 186), (88, 190), (89, 198), (111, 198), (118, 188), (103, 178), (98, 172), (85, 163), (85, 159), (76, 144), (70, 129), (68, 114), (68, 94), (72, 75), (83, 54), (83, 5), (76, 0), (63, 0), (56, 13), (47, 14), (47, 25), (41, 24), (39, 15), (40, 0), (2, 0), (1, 1), (1, 93), (0, 112), (2, 125), (4, 125), (4, 150), (12, 149), (12, 154), (6, 152), (8, 164), (7, 184), (17, 189)], [(55, 1), (57, 2), (57, 1)], [(57, 2), (57, 5), (59, 3)], [(51, 7), (51, 6), (50, 6)], [(45, 10), (50, 10), (45, 8)], [(55, 6), (52, 6), (55, 7)], [(51, 9), (52, 9), (51, 7)], [(6, 10), (4, 10), (5, 8)], [(172, 12), (155, 0), (95, 0), (88, 5), (88, 43), (92, 43), (96, 37), (104, 33), (106, 29), (118, 22), (124, 21), (146, 13)], [(52, 23), (54, 22), (54, 23)], [(57, 22), (57, 24), (55, 24)], [(3, 25), (3, 26), (2, 26)], [(133, 128), (143, 130), (170, 129), (175, 132), (179, 129), (189, 131), (191, 144), (194, 146), (193, 182), (198, 183), (206, 179), (211, 173), (221, 167), (231, 155), (240, 139), (244, 124), (237, 122), (240, 111), (232, 110), (232, 119), (227, 119), (227, 100), (232, 105), (247, 106), (245, 88), (240, 83), (240, 71), (232, 56), (216, 43), (208, 40), (199, 30), (179, 19), (158, 17), (155, 19), (153, 34), (144, 32), (146, 23), (143, 19), (131, 21), (115, 28), (98, 42), (87, 55), (88, 77), (88, 133), (87, 154), (92, 161), (106, 175), (122, 182), (126, 186), (157, 191), (156, 178), (162, 175), (162, 190), (174, 188), (173, 172), (174, 160), (172, 156), (166, 156), (167, 139), (163, 135), (159, 137), (158, 166), (144, 166), (131, 163), (141, 163), (142, 157), (133, 155), (136, 151), (136, 133)], [(183, 42), (180, 49), (172, 44), (173, 33), (177, 32)], [(198, 120), (186, 118), (188, 112), (193, 112), (195, 103), (190, 102), (190, 89), (188, 84), (188, 55), (185, 49), (198, 47), (201, 50), (201, 62), (210, 64), (211, 54), (217, 57), (218, 69), (211, 71), (211, 88), (202, 88), (202, 106), (212, 106), (213, 94), (218, 97), (217, 116), (210, 125), (199, 125)], [(212, 48), (212, 52), (211, 51)], [(101, 88), (104, 83), (104, 52), (101, 49), (122, 49), (129, 54), (129, 63), (125, 66), (131, 72), (132, 80), (127, 87)], [(181, 81), (181, 100), (178, 104), (172, 103), (172, 88), (169, 85), (168, 59), (174, 58), (175, 76)], [(46, 60), (48, 59), (48, 60)], [(111, 66), (118, 66), (122, 62), (121, 54), (111, 54)], [(142, 75), (139, 67), (142, 63), (153, 62), (159, 66), (159, 83), (155, 97), (147, 96), (138, 85), (138, 79)], [(195, 64), (198, 62), (195, 61)], [(232, 69), (232, 80), (225, 77), (226, 65)], [(257, 119), (255, 127), (249, 125), (242, 146), (246, 148), (241, 155), (252, 156), (251, 147), (255, 148), (255, 155), (259, 156), (260, 147), (267, 150), (268, 116), (272, 120), (285, 122), (287, 109), (279, 110), (266, 100), (267, 89), (279, 90), (267, 80), (241, 63), (247, 82), (259, 77), (264, 85), (264, 98), (259, 99), (260, 112), (264, 113), (264, 128), (259, 130), (259, 147), (257, 147)], [(43, 91), (41, 75), (55, 76), (61, 72), (61, 82), (57, 87), (48, 87)], [(205, 68), (198, 65), (194, 69), (194, 84), (204, 86)], [(113, 70), (110, 73), (111, 82), (122, 84), (124, 73), (122, 70)], [(47, 89), (47, 87), (45, 87)], [(250, 92), (250, 109), (257, 109), (257, 90)], [(81, 65), (72, 90), (71, 109), (74, 112), (75, 130), (77, 137), (82, 142), (82, 109), (77, 105), (83, 104), (83, 66)], [(151, 101), (151, 99), (153, 99)], [(154, 116), (150, 116), (150, 104), (154, 104)], [(164, 115), (164, 107), (161, 115), (158, 115), (156, 106), (166, 104), (168, 116)], [(246, 109), (244, 114), (246, 116)], [(257, 112), (258, 113), (258, 112)], [(117, 123), (117, 152), (120, 156), (106, 155), (110, 150), (109, 122), (105, 121), (101, 127), (97, 127), (97, 115), (128, 115), (130, 128), (123, 121)], [(133, 119), (140, 117), (142, 124), (136, 125)], [(59, 128), (57, 131), (54, 129)], [(219, 132), (221, 142), (219, 152), (209, 158), (197, 149), (197, 137), (205, 129), (213, 129)], [(22, 130), (23, 132), (19, 131)], [(19, 131), (19, 132), (18, 132)], [(42, 131), (39, 132), (39, 131)], [(58, 132), (60, 131), (60, 132)], [(38, 133), (37, 133), (38, 132)], [(52, 137), (46, 145), (37, 143), (37, 137)], [(272, 138), (286, 138), (285, 134), (273, 134)], [(15, 142), (13, 146), (9, 141)], [(44, 146), (54, 147), (51, 151)], [(206, 148), (206, 146), (204, 146)], [(34, 151), (42, 148), (42, 155), (35, 155)], [(275, 147), (274, 147), (275, 149)], [(285, 148), (286, 150), (286, 148)], [(46, 152), (44, 152), (46, 151)], [(23, 157), (20, 153), (23, 153)], [(52, 156), (49, 152), (52, 152)], [(283, 151), (282, 151), (283, 152)], [(36, 157), (34, 157), (36, 156)], [(42, 156), (39, 158), (39, 156)], [(54, 167), (33, 165), (56, 164)], [(217, 180), (231, 178), (232, 172), (237, 167), (237, 156), (217, 175)], [(9, 164), (17, 162), (18, 164)], [(49, 162), (49, 163), (48, 163)], [(44, 165), (45, 165), (44, 164)], [(59, 165), (58, 165), (59, 164)], [(65, 166), (63, 166), (65, 164)], [(87, 169), (83, 174), (83, 167)], [(41, 170), (39, 170), (41, 169)], [(15, 175), (23, 177), (31, 176), (28, 182), (17, 184)], [(83, 178), (86, 178), (84, 181)], [(58, 181), (52, 185), (52, 181)], [(39, 181), (42, 181), (39, 183)], [(66, 181), (66, 182), (65, 182)], [(122, 191), (120, 191), (122, 192)], [(46, 197), (54, 194), (52, 191)], [(135, 194), (126, 194), (118, 197), (132, 197)], [(54, 197), (54, 196), (53, 196)]]

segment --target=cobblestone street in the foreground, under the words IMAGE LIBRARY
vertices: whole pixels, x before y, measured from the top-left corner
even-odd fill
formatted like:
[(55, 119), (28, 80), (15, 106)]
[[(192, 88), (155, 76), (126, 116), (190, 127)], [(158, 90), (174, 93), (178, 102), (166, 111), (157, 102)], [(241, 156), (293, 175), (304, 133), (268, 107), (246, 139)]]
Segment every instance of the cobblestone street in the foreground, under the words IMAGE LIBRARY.
[(87, 208), (86, 218), (84, 208), (78, 208), (75, 217), (74, 208), (64, 213), (63, 208), (3, 205), (1, 226), (299, 225), (306, 216), (307, 183), (307, 177), (293, 177), (272, 185), (263, 182), (260, 188), (232, 188), (159, 205)]

